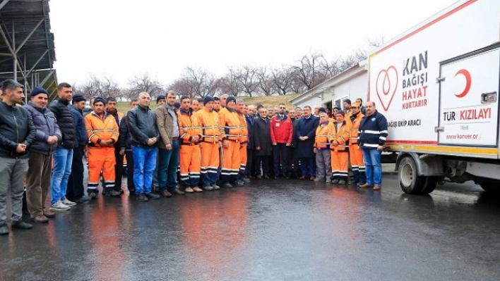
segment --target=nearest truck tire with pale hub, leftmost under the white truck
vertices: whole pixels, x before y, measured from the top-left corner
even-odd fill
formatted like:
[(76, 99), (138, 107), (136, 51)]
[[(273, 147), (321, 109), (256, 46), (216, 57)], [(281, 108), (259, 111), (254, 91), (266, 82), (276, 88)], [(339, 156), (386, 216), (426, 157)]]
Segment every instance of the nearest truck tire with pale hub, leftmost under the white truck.
[(425, 178), (417, 173), (417, 164), (411, 156), (401, 159), (398, 166), (399, 186), (407, 194), (419, 194), (424, 187)]

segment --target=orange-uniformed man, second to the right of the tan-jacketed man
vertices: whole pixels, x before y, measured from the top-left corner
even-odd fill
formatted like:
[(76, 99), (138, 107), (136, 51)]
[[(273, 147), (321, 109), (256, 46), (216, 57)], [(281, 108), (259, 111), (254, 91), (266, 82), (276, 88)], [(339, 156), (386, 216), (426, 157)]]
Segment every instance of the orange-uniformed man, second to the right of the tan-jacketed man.
[(213, 111), (213, 96), (203, 99), (203, 109), (196, 112), (196, 117), (201, 126), (201, 182), (203, 189), (219, 189), (217, 182), (217, 169), (219, 167), (219, 115)]

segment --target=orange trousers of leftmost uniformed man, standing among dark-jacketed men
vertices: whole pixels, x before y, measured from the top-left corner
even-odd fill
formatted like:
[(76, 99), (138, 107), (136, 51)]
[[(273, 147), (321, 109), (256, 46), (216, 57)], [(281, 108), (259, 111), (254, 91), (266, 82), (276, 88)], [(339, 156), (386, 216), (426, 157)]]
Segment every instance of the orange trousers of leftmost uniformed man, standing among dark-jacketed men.
[(104, 187), (102, 189), (114, 189), (114, 147), (89, 147), (88, 149), (88, 191), (97, 192), (99, 177), (102, 171)]

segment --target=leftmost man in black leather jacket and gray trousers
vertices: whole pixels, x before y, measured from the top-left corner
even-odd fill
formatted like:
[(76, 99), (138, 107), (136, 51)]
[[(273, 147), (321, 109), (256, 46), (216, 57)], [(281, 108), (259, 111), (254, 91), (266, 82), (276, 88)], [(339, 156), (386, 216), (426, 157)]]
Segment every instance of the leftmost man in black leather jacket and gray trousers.
[[(35, 139), (35, 126), (24, 108), (16, 106), (24, 99), (23, 85), (5, 80), (0, 101), (0, 235), (8, 234), (7, 195), (11, 194), (11, 227), (30, 229), (23, 216), (23, 180), (28, 172), (28, 147)], [(13, 118), (14, 117), (14, 118)]]

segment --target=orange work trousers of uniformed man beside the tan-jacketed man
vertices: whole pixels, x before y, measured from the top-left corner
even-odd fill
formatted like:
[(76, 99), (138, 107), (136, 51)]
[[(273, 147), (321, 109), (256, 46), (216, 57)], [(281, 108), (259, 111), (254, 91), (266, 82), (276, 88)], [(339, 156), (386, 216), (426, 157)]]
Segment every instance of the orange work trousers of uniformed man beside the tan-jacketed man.
[(197, 144), (181, 144), (179, 152), (181, 166), (181, 186), (196, 187), (200, 182), (201, 151)]

